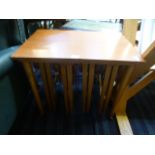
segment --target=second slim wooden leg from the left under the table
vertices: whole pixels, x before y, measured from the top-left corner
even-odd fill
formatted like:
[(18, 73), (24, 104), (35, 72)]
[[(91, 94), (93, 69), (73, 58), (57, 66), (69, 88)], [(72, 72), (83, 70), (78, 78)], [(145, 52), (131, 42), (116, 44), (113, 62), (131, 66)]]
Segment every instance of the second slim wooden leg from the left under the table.
[(47, 77), (46, 77), (45, 66), (44, 66), (43, 63), (40, 63), (39, 66), (40, 66), (42, 81), (43, 81), (43, 84), (44, 84), (47, 103), (48, 103), (49, 107), (51, 108), (51, 100), (50, 100), (50, 94), (49, 94), (49, 89), (48, 89), (48, 81), (47, 81)]

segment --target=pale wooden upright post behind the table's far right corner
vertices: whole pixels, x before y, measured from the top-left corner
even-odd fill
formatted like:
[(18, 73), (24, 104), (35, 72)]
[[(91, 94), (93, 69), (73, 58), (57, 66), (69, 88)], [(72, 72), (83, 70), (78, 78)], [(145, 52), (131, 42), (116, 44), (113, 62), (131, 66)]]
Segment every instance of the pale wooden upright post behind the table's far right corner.
[(133, 45), (135, 45), (137, 29), (138, 29), (137, 19), (124, 20), (123, 34)]

